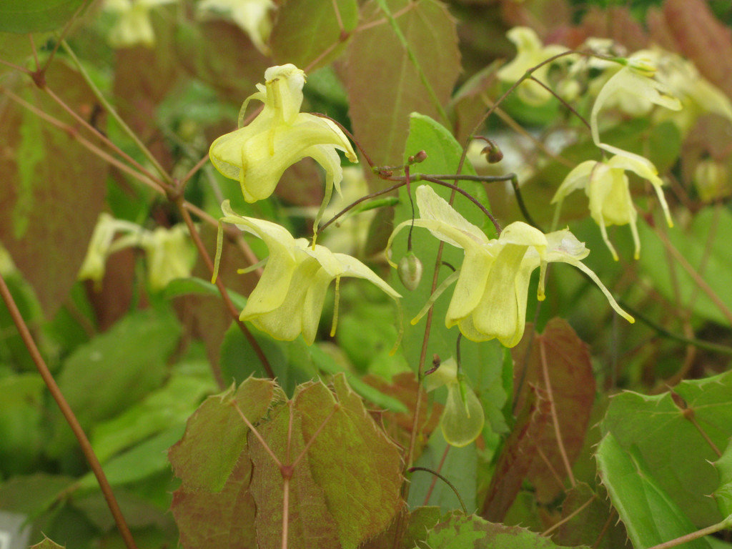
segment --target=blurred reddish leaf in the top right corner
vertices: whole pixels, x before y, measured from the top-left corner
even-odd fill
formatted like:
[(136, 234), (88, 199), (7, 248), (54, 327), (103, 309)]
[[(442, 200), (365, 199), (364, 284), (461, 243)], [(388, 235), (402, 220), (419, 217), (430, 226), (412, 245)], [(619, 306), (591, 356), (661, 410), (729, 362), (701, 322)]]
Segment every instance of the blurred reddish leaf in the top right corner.
[(714, 17), (704, 0), (666, 0), (668, 30), (679, 52), (694, 61), (699, 72), (732, 97), (732, 35)]

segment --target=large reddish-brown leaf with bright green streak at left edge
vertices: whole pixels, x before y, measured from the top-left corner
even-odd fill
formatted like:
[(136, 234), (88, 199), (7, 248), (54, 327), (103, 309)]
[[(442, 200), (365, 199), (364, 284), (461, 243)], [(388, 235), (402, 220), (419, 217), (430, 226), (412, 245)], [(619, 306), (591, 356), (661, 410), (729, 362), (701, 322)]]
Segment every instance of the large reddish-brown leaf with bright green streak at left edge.
[[(91, 113), (96, 99), (66, 64), (51, 64), (48, 86), (72, 110)], [(15, 93), (78, 123), (30, 81)], [(75, 283), (106, 193), (105, 163), (11, 100), (0, 105), (0, 241), (52, 317)], [(91, 138), (92, 141), (94, 137)]]

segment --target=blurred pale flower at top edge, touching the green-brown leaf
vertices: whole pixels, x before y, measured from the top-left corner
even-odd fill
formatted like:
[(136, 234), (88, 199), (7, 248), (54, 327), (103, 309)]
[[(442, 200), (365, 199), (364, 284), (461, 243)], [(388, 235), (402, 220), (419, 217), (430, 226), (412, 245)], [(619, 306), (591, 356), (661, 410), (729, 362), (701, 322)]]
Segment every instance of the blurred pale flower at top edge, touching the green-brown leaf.
[(266, 42), (272, 32), (269, 12), (277, 6), (272, 0), (201, 0), (196, 10), (203, 18), (228, 15), (252, 40), (255, 48), (269, 55)]

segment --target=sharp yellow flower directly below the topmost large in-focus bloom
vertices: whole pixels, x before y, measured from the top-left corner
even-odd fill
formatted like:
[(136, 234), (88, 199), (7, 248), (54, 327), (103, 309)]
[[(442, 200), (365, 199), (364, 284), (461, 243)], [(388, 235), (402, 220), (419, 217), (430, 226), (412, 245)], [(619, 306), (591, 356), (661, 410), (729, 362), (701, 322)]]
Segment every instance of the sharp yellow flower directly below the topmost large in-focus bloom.
[[(221, 209), (224, 212), (222, 222), (233, 223), (242, 231), (258, 236), (269, 248), (262, 276), (239, 318), (250, 321), (277, 340), (291, 341), (302, 333), (308, 345), (315, 341), (326, 291), (333, 280), (336, 281), (335, 330), (337, 288), (341, 277), (363, 278), (381, 288), (392, 299), (400, 298), (400, 294), (391, 286), (350, 255), (332, 253), (320, 244), (312, 246), (304, 238), (295, 239), (277, 223), (236, 214), (228, 201), (223, 202)], [(220, 239), (221, 231), (217, 265)]]

